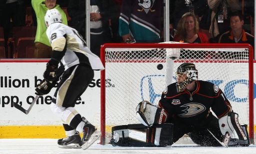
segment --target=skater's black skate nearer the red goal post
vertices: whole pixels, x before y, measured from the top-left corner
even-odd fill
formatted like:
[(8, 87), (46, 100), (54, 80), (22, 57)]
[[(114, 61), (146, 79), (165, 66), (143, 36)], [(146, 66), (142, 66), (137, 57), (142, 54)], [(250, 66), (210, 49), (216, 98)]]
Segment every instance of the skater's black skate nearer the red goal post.
[(82, 149), (85, 150), (89, 148), (101, 135), (97, 129), (91, 125), (84, 117), (82, 120), (85, 122), (83, 126), (83, 137), (82, 137)]

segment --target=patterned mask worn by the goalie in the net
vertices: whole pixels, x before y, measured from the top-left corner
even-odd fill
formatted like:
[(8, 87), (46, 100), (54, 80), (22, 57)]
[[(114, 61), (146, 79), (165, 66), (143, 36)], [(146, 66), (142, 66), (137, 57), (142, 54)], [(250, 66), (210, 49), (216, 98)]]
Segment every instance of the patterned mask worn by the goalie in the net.
[(176, 71), (177, 92), (182, 92), (186, 86), (198, 79), (198, 72), (192, 63), (183, 63), (178, 66)]

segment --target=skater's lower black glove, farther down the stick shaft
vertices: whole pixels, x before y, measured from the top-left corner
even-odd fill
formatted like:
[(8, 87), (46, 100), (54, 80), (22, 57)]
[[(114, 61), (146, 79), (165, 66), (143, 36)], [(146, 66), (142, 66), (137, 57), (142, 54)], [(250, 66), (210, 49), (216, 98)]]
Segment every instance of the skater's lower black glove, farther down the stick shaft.
[(55, 83), (56, 82), (43, 79), (42, 82), (40, 82), (40, 84), (38, 84), (35, 88), (35, 94), (39, 96), (48, 94)]

